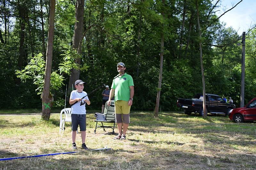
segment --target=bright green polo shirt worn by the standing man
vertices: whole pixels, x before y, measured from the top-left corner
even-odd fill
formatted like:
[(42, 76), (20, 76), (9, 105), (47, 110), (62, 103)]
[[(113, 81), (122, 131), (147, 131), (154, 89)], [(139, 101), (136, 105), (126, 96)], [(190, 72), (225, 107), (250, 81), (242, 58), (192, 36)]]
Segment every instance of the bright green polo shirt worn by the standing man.
[(115, 89), (115, 101), (130, 99), (130, 86), (134, 86), (132, 76), (124, 73), (122, 77), (113, 80), (111, 89)]

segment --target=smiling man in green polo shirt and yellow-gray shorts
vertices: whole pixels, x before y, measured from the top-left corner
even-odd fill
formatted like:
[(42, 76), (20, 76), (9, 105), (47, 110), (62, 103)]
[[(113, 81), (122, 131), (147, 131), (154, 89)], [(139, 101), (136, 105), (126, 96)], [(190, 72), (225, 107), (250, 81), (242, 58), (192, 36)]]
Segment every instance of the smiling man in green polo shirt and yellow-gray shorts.
[[(118, 128), (118, 135), (114, 138), (124, 140), (125, 134), (130, 123), (130, 109), (134, 95), (134, 84), (132, 76), (124, 73), (126, 69), (124, 63), (117, 64), (118, 77), (112, 82), (108, 105), (110, 106), (111, 98), (115, 94), (115, 115)], [(123, 134), (122, 134), (123, 129)]]

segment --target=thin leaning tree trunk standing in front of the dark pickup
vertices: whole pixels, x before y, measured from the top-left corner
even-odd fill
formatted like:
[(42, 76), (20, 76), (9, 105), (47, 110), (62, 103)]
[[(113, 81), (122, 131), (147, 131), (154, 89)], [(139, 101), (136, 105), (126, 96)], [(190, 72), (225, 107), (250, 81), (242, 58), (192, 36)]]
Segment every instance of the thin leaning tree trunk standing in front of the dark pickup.
[(200, 63), (201, 63), (201, 72), (202, 72), (202, 81), (203, 81), (203, 109), (204, 109), (204, 115), (205, 118), (207, 116), (207, 109), (206, 109), (206, 103), (205, 103), (205, 82), (204, 82), (204, 66), (203, 66), (203, 53), (202, 53), (202, 33), (201, 33), (201, 27), (199, 22), (199, 11), (198, 11), (198, 1), (196, 0), (196, 14), (197, 14), (197, 25), (198, 25), (198, 31), (199, 31), (199, 49), (200, 49)]

